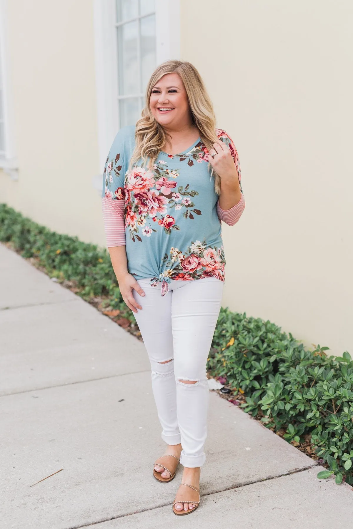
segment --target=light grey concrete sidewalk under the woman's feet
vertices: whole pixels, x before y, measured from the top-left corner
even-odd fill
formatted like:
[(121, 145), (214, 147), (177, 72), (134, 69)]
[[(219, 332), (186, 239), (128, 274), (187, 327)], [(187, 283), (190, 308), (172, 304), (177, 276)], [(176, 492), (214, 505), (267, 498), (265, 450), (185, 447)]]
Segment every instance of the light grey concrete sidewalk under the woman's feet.
[(1, 529), (351, 524), (351, 487), (213, 392), (201, 505), (175, 516), (143, 344), (1, 244), (0, 351)]

